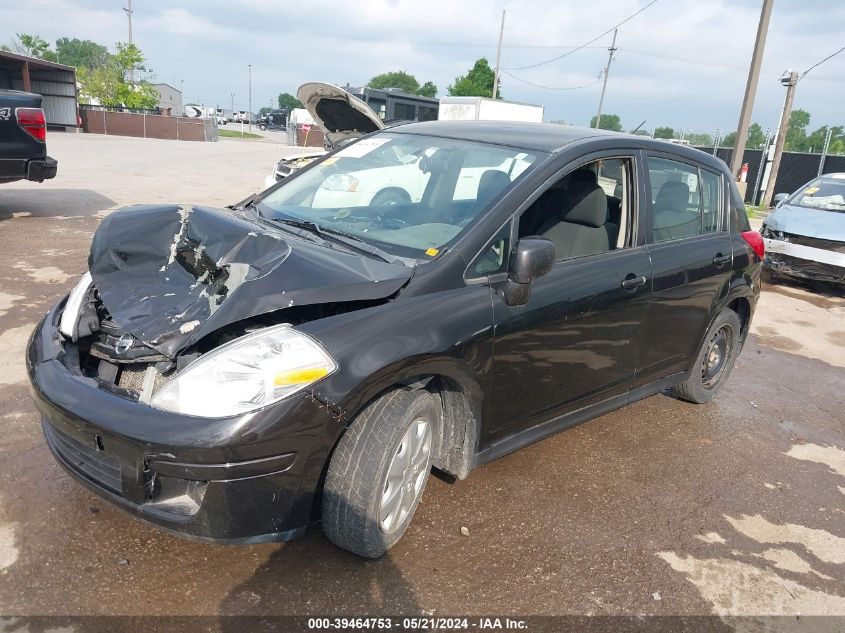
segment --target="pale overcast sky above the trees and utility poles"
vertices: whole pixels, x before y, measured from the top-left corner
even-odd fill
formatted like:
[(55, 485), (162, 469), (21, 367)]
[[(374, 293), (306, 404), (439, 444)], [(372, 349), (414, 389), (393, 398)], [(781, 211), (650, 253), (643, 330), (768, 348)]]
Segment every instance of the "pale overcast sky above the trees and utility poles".
[[(155, 80), (184, 86), (186, 101), (236, 109), (270, 105), (305, 81), (363, 85), (407, 70), (439, 95), (481, 56), (495, 63), (505, 20), (502, 94), (545, 106), (546, 120), (589, 123), (611, 35), (596, 37), (649, 0), (134, 0), (134, 41)], [(605, 112), (626, 128), (668, 125), (696, 132), (736, 127), (762, 0), (658, 0), (619, 30)], [(29, 0), (0, 5), (0, 41), (16, 32), (48, 41), (78, 37), (113, 47), (127, 39), (125, 0)], [(845, 1), (775, 0), (754, 120), (774, 127), (787, 68), (804, 71), (845, 46)], [(520, 81), (519, 79), (523, 80)], [(182, 83), (184, 82), (184, 83)], [(571, 88), (547, 90), (529, 85)], [(845, 124), (845, 53), (798, 87), (811, 127)]]

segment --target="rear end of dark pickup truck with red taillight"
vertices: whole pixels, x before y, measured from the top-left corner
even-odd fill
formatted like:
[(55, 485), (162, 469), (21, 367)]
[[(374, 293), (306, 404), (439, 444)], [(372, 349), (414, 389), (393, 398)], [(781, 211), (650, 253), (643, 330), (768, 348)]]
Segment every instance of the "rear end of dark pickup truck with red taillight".
[(0, 183), (55, 178), (58, 162), (47, 156), (46, 138), (41, 96), (0, 90)]

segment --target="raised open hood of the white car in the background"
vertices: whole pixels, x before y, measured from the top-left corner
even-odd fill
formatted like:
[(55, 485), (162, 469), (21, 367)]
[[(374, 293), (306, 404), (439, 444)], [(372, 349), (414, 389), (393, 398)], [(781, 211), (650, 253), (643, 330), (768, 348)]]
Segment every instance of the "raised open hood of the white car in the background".
[(299, 87), (296, 98), (322, 128), (333, 147), (384, 129), (384, 123), (370, 106), (338, 86), (312, 81)]

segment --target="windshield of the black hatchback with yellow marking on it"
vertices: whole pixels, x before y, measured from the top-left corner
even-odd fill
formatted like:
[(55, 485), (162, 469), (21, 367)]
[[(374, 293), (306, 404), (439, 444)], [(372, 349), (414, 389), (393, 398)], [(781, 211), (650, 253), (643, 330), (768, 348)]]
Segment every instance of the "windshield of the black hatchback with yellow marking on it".
[(538, 158), (518, 148), (384, 132), (345, 146), (261, 198), (265, 218), (309, 222), (392, 255), (431, 259)]

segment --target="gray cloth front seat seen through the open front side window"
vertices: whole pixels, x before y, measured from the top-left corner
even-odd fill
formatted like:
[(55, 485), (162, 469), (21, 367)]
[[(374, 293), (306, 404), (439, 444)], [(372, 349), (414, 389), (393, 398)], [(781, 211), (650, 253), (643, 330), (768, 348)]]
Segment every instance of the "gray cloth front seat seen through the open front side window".
[(540, 235), (555, 245), (556, 259), (584, 257), (610, 250), (605, 223), (607, 196), (597, 184), (574, 181), (566, 189), (563, 219), (545, 227)]

